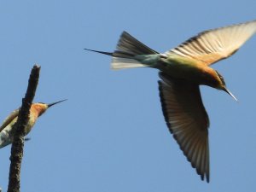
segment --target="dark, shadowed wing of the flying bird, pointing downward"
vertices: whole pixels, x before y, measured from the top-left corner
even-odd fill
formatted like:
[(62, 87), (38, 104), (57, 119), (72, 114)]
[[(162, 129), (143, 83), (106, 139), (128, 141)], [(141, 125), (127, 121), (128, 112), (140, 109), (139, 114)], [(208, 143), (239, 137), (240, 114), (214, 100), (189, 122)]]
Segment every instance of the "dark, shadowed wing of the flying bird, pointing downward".
[(166, 124), (201, 179), (209, 182), (209, 119), (199, 86), (160, 73), (159, 90)]

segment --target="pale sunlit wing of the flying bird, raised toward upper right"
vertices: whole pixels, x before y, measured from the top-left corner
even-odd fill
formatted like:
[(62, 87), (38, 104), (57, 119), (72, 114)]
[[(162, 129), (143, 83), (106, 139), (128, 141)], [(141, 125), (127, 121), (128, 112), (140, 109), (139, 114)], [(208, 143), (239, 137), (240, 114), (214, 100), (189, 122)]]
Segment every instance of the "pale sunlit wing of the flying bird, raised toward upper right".
[(256, 32), (256, 20), (199, 33), (165, 54), (177, 54), (211, 65), (233, 55)]

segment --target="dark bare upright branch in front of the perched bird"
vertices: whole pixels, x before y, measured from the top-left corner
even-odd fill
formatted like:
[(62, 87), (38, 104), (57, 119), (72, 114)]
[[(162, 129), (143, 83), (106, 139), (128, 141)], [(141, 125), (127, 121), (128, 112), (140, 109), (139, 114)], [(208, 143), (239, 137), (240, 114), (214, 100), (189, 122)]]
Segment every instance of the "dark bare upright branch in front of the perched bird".
[(11, 164), (9, 167), (8, 192), (20, 191), (20, 166), (23, 157), (25, 127), (29, 119), (29, 111), (32, 105), (32, 101), (37, 90), (39, 73), (40, 67), (35, 65), (32, 68), (30, 78), (28, 80), (26, 96), (22, 99), (22, 106), (20, 108), (17, 123), (14, 127), (14, 141), (12, 143), (11, 156), (9, 158)]

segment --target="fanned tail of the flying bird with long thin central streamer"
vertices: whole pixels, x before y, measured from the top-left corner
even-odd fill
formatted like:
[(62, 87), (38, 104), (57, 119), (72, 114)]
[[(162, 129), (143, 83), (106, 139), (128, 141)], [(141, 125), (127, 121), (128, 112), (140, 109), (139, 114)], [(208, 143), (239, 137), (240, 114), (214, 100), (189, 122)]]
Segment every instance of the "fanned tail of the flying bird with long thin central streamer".
[[(145, 44), (133, 38), (128, 32), (122, 32), (116, 50), (111, 52), (86, 49), (104, 55), (111, 55), (112, 69), (132, 68), (132, 67), (150, 67), (150, 65), (139, 60), (137, 55), (158, 55), (154, 49), (150, 49)], [(143, 57), (141, 57), (143, 58)]]

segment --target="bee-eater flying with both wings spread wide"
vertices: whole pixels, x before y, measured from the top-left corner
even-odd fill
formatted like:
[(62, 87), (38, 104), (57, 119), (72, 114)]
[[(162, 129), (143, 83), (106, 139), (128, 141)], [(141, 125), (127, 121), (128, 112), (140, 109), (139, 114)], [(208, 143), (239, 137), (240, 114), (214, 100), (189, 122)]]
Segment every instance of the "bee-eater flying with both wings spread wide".
[(166, 125), (196, 172), (210, 180), (207, 111), (199, 85), (224, 90), (224, 78), (210, 67), (236, 53), (256, 32), (256, 20), (201, 32), (165, 53), (123, 32), (113, 53), (87, 49), (112, 56), (112, 68), (153, 67), (160, 70), (159, 90)]

